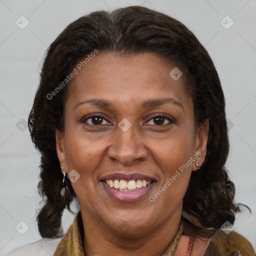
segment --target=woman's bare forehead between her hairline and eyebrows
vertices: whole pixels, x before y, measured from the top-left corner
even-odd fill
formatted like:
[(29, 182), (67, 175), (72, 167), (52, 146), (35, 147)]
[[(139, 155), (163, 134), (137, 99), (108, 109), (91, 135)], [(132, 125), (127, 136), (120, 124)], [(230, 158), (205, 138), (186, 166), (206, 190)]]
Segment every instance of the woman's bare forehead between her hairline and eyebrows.
[[(79, 66), (79, 65), (78, 65)], [(131, 56), (116, 52), (99, 52), (84, 66), (68, 85), (67, 99), (73, 103), (90, 98), (130, 104), (148, 98), (172, 97), (185, 103), (185, 75), (174, 80), (170, 71), (177, 68), (155, 53), (144, 52)], [(174, 69), (175, 70), (175, 69)]]

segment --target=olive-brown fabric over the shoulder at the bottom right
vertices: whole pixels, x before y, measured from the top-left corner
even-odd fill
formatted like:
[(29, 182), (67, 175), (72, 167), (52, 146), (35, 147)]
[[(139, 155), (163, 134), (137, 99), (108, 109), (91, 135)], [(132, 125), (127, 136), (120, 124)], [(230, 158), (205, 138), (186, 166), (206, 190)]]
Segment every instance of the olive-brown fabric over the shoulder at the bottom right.
[(226, 234), (218, 230), (211, 238), (210, 243), (205, 251), (205, 256), (230, 255), (234, 251), (239, 251), (241, 256), (255, 256), (255, 251), (251, 243), (241, 234), (231, 231)]

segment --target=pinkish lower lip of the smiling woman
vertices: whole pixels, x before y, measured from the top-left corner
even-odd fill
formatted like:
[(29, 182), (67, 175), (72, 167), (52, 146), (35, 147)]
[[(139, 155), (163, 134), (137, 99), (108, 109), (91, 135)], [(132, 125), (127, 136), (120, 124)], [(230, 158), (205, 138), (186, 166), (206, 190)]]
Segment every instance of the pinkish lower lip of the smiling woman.
[(134, 191), (119, 191), (113, 187), (107, 185), (104, 181), (101, 181), (105, 191), (115, 200), (121, 202), (133, 202), (144, 198), (152, 189), (155, 181), (152, 181), (149, 185), (138, 188)]

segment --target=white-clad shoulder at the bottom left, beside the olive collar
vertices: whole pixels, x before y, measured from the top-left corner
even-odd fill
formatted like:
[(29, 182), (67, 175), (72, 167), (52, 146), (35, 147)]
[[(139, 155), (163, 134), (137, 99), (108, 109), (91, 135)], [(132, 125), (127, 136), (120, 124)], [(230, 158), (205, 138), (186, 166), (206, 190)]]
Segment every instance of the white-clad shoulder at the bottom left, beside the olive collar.
[(36, 242), (25, 244), (10, 253), (9, 256), (52, 256), (61, 238), (40, 239)]

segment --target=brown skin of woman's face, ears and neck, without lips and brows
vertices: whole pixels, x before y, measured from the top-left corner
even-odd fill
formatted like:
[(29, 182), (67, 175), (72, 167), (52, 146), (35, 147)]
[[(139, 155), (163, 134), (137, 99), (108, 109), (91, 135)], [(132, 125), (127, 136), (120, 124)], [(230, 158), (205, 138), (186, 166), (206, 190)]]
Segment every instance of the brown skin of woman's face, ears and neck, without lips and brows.
[[(196, 151), (201, 153), (197, 160), (203, 163), (208, 120), (195, 129), (185, 75), (172, 79), (169, 72), (174, 67), (154, 53), (119, 56), (99, 52), (70, 81), (64, 132), (56, 130), (56, 150), (65, 172), (75, 169), (80, 175), (72, 186), (80, 201), (86, 255), (161, 255), (178, 231), (182, 198), (191, 172), (198, 169), (195, 161), (154, 202), (148, 197)], [(141, 107), (144, 100), (164, 97), (180, 102), (183, 109), (171, 102)], [(91, 98), (107, 99), (112, 106), (84, 103), (75, 107)], [(95, 118), (80, 122), (92, 113), (103, 115), (99, 125)], [(166, 114), (175, 122), (163, 119), (161, 123), (152, 118), (157, 114)], [(131, 124), (126, 131), (118, 127), (123, 118)], [(144, 198), (119, 202), (100, 182), (103, 175), (119, 170), (157, 181)], [(121, 229), (123, 225), (126, 230)]]

